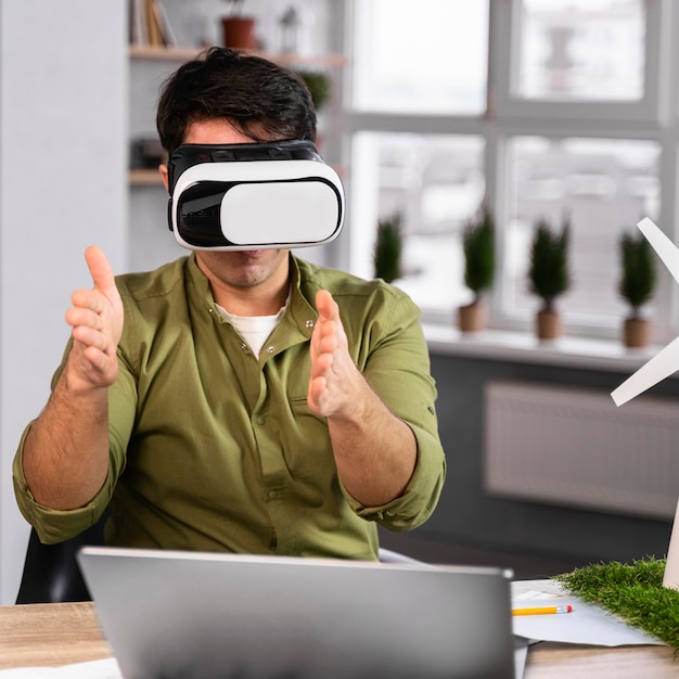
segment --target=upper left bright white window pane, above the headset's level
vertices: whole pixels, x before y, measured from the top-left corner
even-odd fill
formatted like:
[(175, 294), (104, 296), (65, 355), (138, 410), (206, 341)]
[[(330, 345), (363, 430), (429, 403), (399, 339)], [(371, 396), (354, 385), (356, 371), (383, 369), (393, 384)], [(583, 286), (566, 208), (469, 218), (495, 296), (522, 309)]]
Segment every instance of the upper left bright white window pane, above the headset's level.
[(360, 0), (354, 29), (355, 108), (485, 111), (487, 0)]

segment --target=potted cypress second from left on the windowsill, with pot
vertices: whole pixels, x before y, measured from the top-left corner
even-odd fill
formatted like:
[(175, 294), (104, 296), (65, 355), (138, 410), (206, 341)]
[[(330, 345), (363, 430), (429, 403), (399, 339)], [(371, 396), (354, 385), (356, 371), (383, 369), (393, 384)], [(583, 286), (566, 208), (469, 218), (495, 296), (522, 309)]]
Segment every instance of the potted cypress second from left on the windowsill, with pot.
[(476, 218), (462, 232), (464, 254), (464, 284), (474, 298), (458, 309), (461, 332), (478, 332), (486, 325), (486, 305), (483, 293), (492, 285), (495, 274), (495, 219), (484, 204)]

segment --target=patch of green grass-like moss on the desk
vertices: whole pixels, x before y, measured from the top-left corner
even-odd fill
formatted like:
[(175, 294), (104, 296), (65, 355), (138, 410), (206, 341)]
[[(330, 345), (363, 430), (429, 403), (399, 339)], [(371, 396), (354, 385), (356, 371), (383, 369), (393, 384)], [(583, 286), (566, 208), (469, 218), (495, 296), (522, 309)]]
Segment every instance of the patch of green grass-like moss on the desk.
[(679, 591), (663, 587), (665, 559), (598, 563), (558, 575), (569, 592), (679, 651)]

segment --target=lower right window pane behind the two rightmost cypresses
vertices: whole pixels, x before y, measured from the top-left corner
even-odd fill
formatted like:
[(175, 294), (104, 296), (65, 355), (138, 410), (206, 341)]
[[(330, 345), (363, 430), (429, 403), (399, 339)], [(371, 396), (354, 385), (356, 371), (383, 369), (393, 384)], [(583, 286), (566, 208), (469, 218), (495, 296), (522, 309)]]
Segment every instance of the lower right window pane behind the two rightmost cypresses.
[(528, 318), (528, 254), (535, 222), (560, 228), (571, 215), (571, 290), (556, 300), (571, 321), (615, 326), (627, 313), (617, 292), (619, 238), (659, 214), (659, 145), (651, 141), (518, 137), (509, 143), (509, 215), (502, 310)]

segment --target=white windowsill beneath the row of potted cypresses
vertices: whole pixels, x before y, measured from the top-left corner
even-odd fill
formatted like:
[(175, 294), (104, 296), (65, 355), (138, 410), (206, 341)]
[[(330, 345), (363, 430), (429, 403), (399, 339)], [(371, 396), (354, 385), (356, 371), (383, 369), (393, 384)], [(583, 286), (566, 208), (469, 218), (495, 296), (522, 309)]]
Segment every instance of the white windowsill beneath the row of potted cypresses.
[(663, 348), (626, 349), (619, 342), (567, 336), (540, 343), (530, 333), (495, 330), (463, 335), (454, 328), (427, 323), (423, 330), (432, 354), (612, 372), (631, 373)]

